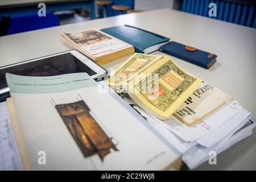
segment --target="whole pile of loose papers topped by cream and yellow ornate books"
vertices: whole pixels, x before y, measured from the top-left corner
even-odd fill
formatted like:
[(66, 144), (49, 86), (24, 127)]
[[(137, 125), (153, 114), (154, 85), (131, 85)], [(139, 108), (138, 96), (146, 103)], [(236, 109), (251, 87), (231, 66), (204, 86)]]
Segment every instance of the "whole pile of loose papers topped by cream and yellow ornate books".
[(183, 154), (189, 168), (250, 134), (251, 113), (232, 96), (189, 75), (170, 57), (154, 56), (135, 53), (107, 82)]

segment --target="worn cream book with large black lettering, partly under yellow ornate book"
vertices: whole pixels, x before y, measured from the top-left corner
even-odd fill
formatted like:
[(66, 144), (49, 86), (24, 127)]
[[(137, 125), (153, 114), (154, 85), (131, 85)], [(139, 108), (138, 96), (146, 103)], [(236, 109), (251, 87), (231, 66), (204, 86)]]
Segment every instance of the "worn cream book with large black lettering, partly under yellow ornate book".
[(175, 111), (174, 116), (191, 126), (232, 100), (229, 94), (202, 81), (199, 88)]

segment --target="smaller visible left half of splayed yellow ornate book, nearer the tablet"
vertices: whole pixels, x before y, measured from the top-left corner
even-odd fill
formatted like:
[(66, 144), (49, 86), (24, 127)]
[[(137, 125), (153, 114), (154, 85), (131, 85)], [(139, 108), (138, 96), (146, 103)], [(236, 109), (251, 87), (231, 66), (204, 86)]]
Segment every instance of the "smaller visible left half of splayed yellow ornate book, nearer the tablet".
[(146, 55), (143, 53), (134, 53), (129, 59), (127, 59), (121, 66), (119, 66), (113, 73), (110, 73), (110, 77), (106, 82), (112, 88), (120, 88), (126, 81), (135, 75), (148, 65), (159, 60), (163, 56)]

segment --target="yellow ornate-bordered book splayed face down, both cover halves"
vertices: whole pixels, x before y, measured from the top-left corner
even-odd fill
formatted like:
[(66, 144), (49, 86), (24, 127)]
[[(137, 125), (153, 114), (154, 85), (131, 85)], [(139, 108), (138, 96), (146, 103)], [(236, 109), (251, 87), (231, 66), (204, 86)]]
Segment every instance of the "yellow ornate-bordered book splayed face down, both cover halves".
[(179, 68), (168, 56), (134, 53), (106, 80), (159, 119), (174, 111), (197, 89), (201, 79)]

